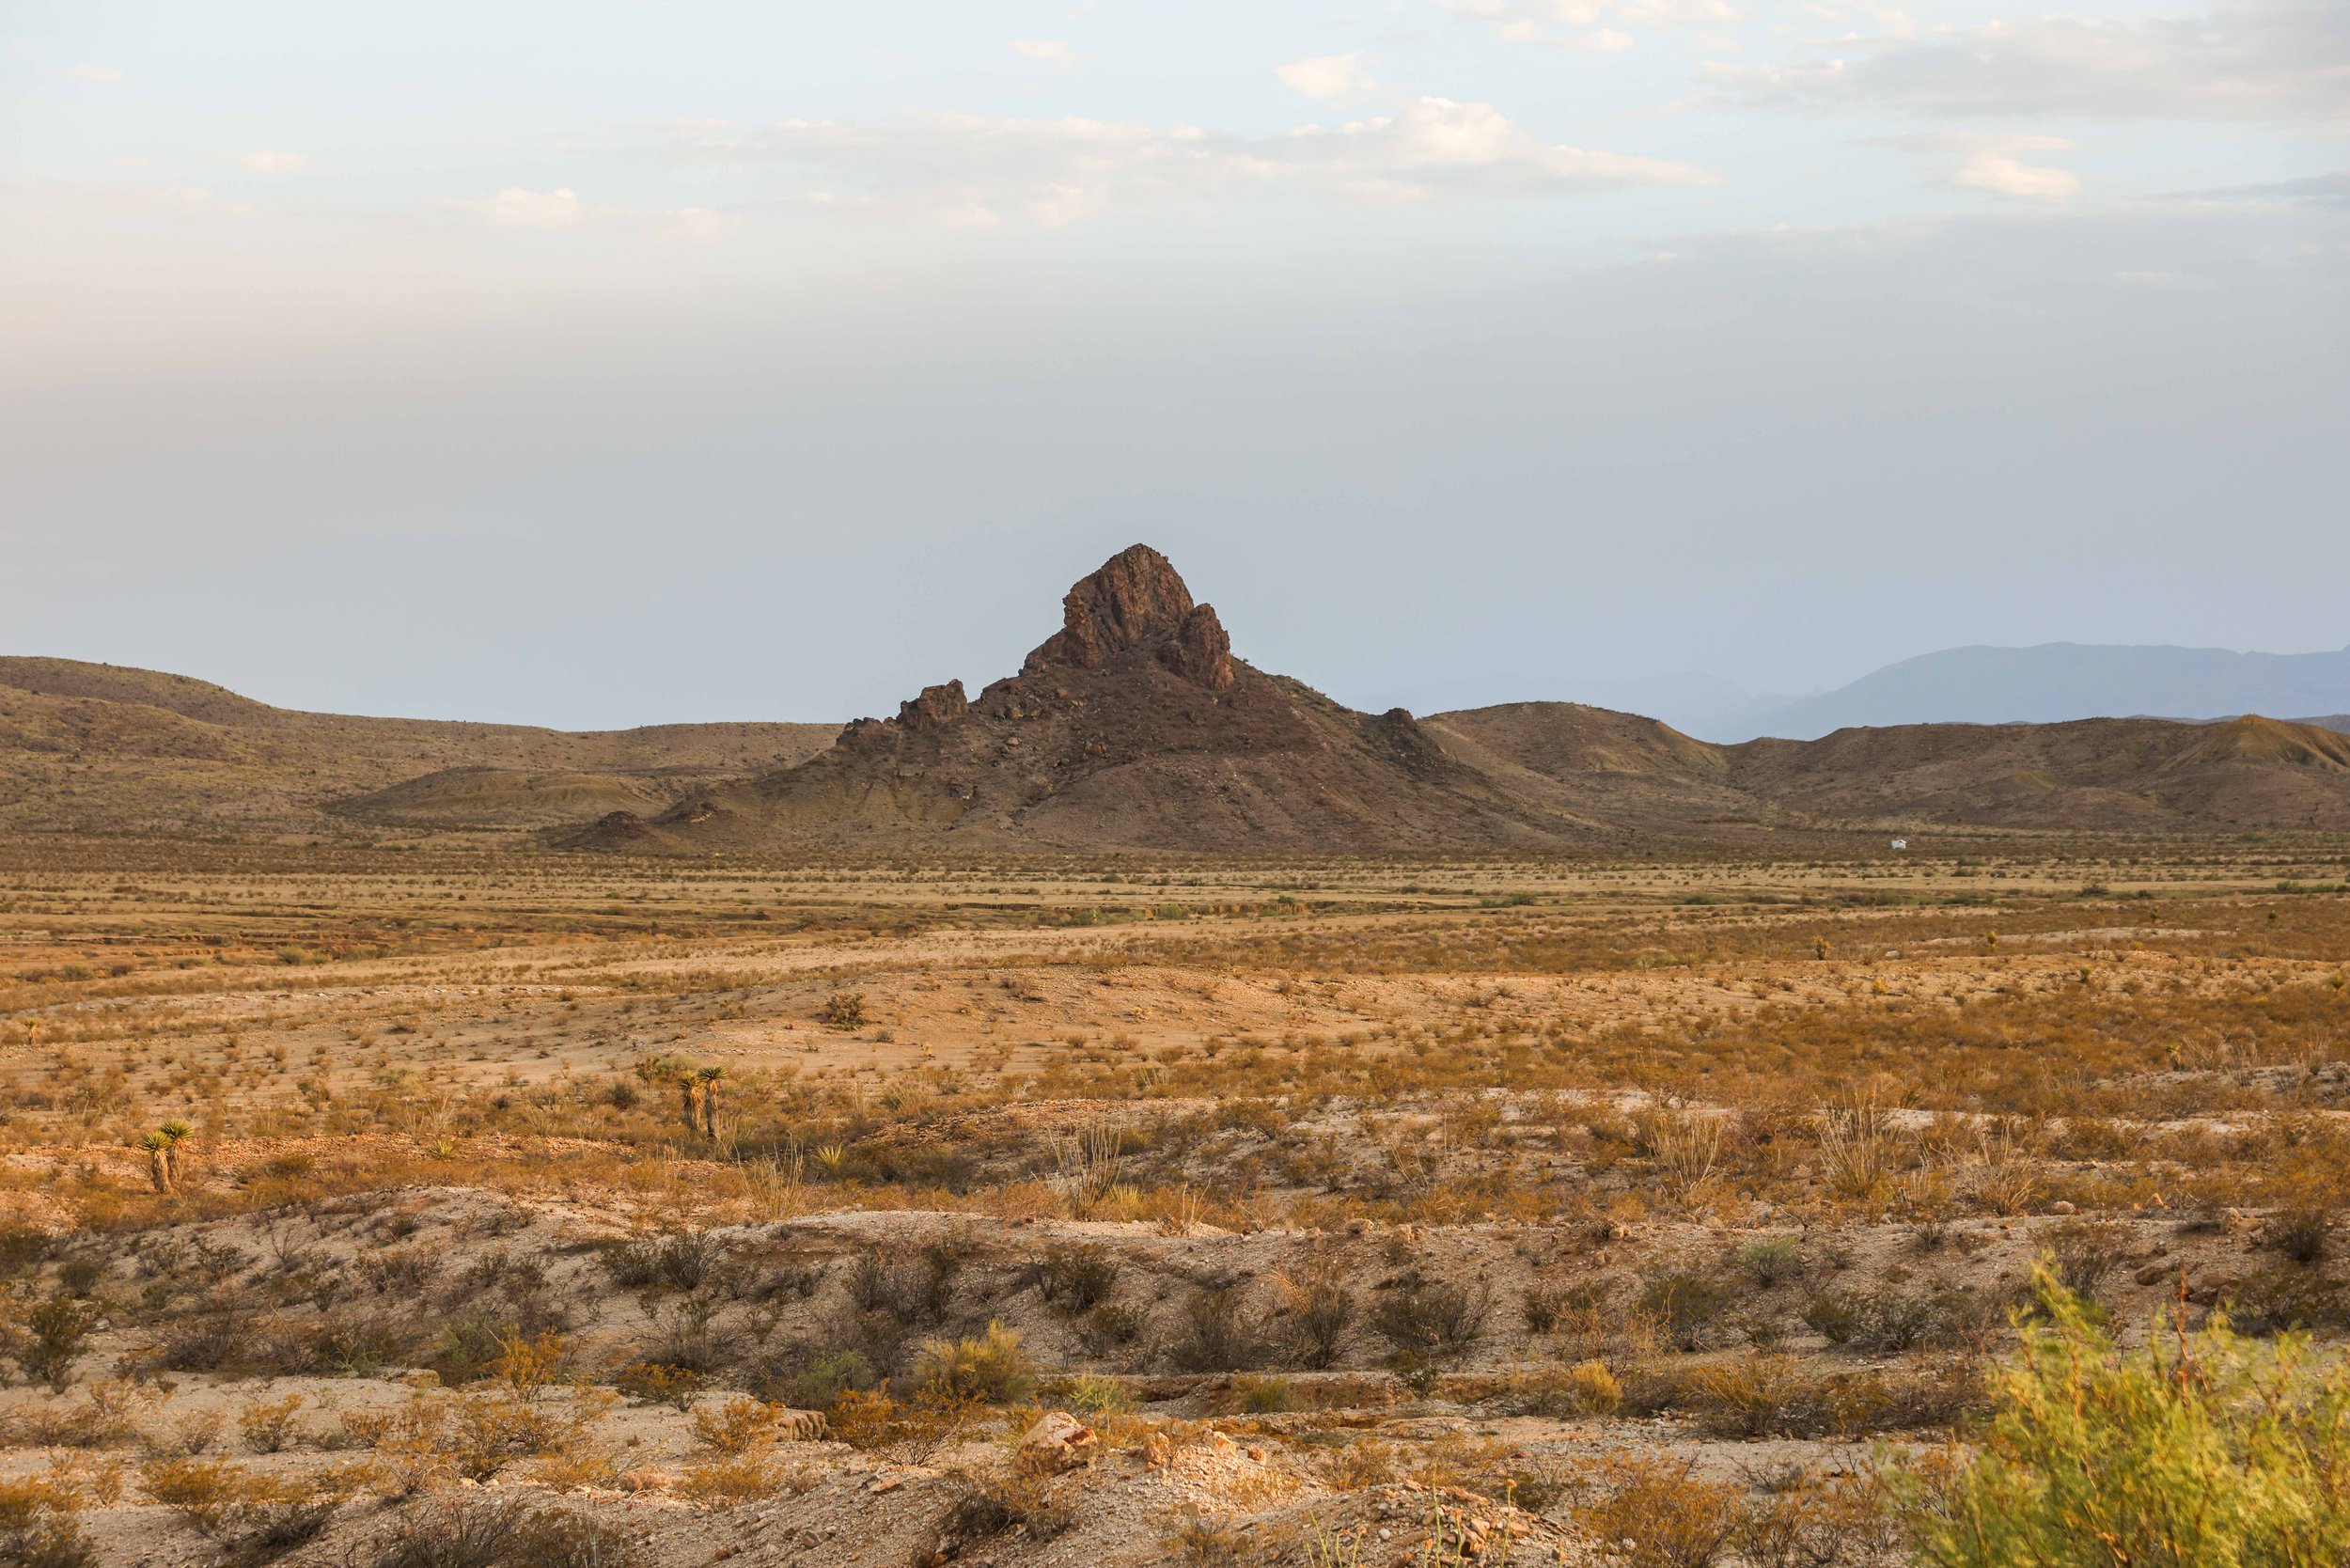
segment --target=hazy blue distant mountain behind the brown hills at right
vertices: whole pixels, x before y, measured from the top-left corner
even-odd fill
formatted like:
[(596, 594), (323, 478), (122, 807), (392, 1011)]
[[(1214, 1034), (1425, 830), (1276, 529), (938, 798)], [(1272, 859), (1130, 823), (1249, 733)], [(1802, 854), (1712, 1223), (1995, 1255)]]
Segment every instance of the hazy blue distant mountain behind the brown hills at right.
[(2350, 649), (2230, 649), (2042, 642), (1943, 649), (1802, 698), (1741, 691), (1708, 675), (1591, 689), (1610, 708), (1652, 712), (1706, 741), (1817, 741), (1892, 724), (2063, 724), (2068, 719), (2232, 719), (2244, 712), (2350, 729)]

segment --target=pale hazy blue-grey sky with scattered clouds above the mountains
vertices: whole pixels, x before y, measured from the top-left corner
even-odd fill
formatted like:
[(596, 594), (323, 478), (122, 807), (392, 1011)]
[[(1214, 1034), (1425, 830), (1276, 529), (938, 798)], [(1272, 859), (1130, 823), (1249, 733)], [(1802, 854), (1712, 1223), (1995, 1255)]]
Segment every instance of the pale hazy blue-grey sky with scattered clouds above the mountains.
[(2350, 2), (0, 0), (0, 651), (566, 726), (1133, 541), (1431, 710), (2350, 644)]

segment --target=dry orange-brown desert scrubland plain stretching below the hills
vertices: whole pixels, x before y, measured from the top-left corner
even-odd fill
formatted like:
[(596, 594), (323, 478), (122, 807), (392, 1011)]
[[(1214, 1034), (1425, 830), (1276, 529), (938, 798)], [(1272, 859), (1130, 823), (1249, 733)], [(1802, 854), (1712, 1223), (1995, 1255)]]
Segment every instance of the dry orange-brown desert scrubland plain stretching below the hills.
[(2345, 879), (0, 842), (0, 1554), (2336, 1561)]

